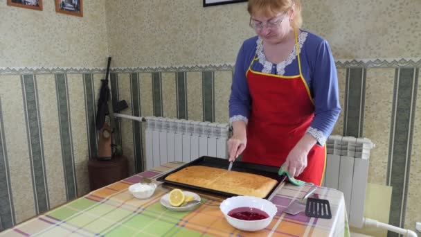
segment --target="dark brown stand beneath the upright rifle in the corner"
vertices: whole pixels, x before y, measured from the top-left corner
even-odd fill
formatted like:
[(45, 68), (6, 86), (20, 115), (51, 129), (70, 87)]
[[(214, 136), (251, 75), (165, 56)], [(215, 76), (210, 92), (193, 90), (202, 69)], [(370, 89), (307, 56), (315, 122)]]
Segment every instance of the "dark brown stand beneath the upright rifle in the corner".
[(129, 176), (127, 157), (110, 160), (93, 159), (88, 162), (89, 187), (91, 191), (120, 181)]

